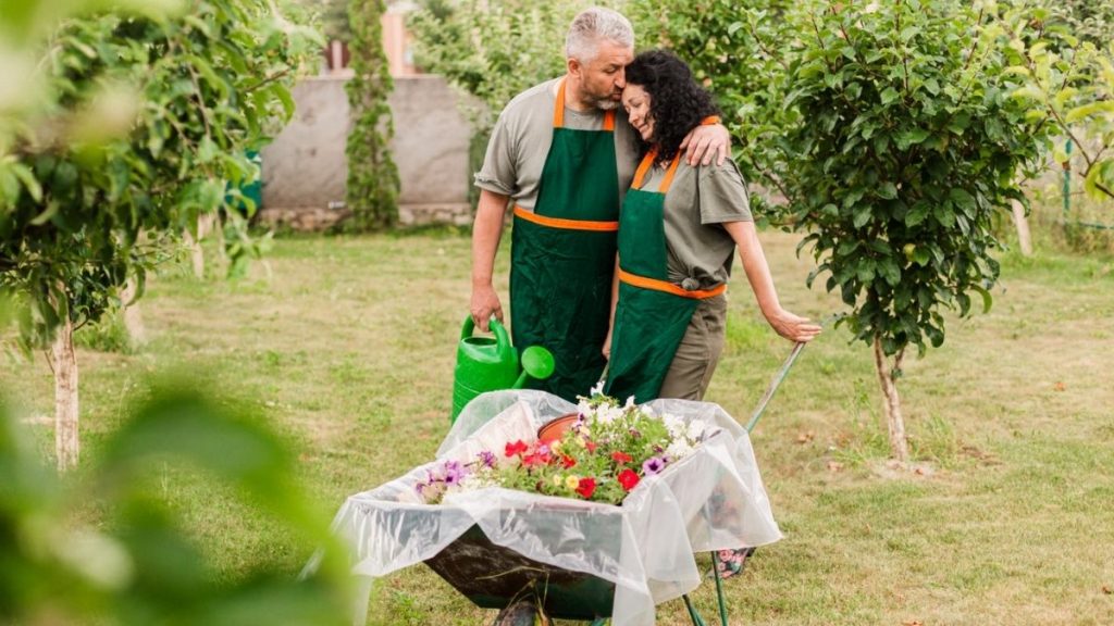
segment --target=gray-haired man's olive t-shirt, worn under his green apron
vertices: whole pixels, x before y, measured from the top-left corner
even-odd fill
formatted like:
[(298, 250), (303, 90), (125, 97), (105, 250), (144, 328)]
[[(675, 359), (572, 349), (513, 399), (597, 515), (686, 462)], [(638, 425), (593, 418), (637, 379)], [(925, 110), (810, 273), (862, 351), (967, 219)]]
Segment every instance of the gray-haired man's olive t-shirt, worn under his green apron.
[[(554, 105), (559, 80), (548, 80), (522, 91), (499, 114), (488, 141), (483, 167), (476, 173), (477, 187), (510, 196), (514, 204), (534, 211), (541, 169), (553, 145)], [(593, 109), (580, 113), (565, 107), (565, 128), (603, 130), (604, 111)], [(615, 111), (614, 135), (618, 202), (623, 202), (634, 179), (638, 147), (622, 107)]]

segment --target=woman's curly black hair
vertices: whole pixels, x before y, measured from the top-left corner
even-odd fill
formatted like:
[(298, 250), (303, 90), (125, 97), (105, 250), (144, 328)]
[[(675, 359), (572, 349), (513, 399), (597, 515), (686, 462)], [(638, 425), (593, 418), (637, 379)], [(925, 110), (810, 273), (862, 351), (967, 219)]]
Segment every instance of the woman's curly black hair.
[(626, 81), (649, 95), (654, 136), (649, 143), (639, 138), (639, 145), (643, 151), (656, 145), (658, 163), (672, 160), (685, 135), (705, 117), (720, 113), (712, 95), (696, 84), (688, 65), (673, 52), (647, 50), (638, 55), (626, 67)]

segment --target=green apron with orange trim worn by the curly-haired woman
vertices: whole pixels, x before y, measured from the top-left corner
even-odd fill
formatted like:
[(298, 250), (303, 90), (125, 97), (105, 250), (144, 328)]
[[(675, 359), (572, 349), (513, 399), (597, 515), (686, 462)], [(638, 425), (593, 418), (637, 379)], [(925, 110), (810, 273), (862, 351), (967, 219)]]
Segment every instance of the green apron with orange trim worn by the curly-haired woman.
[(725, 288), (686, 291), (668, 282), (665, 194), (680, 155), (670, 164), (657, 192), (638, 189), (654, 157), (651, 151), (638, 166), (619, 214), (619, 297), (604, 388), (620, 401), (634, 395), (639, 403), (657, 398), (700, 300)]

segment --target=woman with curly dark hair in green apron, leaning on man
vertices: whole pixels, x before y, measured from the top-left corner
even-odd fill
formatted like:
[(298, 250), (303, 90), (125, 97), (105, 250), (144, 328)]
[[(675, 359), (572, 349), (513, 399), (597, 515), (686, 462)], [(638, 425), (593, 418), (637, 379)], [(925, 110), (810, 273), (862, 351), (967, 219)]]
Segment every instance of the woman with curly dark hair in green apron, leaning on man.
[(735, 247), (778, 334), (810, 341), (820, 326), (781, 307), (734, 162), (678, 158), (690, 130), (717, 109), (684, 61), (663, 50), (626, 67), (623, 107), (644, 158), (619, 213), (605, 392), (701, 400), (723, 349)]

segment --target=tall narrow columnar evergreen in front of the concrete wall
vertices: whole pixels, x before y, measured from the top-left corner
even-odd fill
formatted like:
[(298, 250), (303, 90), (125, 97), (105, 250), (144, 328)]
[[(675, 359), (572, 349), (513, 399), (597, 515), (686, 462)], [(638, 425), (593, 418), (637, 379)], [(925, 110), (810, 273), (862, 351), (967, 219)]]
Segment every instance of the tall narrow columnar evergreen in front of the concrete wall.
[(344, 227), (358, 232), (390, 227), (399, 219), (399, 168), (389, 147), (394, 121), (387, 104), (394, 84), (383, 51), (382, 14), (383, 0), (349, 2), (349, 50), (355, 76), (344, 87), (352, 107), (348, 138), (348, 206), (352, 217)]

